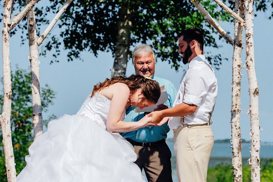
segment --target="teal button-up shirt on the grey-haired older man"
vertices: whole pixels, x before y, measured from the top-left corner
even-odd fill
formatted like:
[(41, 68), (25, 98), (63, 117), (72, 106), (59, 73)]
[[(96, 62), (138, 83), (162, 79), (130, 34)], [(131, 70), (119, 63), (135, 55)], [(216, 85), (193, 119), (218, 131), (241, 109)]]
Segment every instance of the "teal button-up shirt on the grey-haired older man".
[[(169, 108), (172, 107), (172, 104), (174, 102), (174, 99), (176, 97), (176, 88), (174, 85), (166, 79), (159, 78), (157, 76), (153, 76), (152, 79), (157, 81), (160, 86), (164, 85), (164, 88), (166, 89), (168, 93), (168, 100), (164, 103)], [(131, 121), (139, 121), (144, 117), (144, 113), (135, 113), (135, 107), (129, 106), (126, 110), (126, 118), (123, 121), (131, 122)], [(138, 130), (126, 132), (126, 133), (120, 133), (121, 136), (124, 138), (129, 138), (131, 140), (135, 140), (137, 142), (156, 142), (159, 140), (162, 140), (164, 138), (167, 138), (167, 133), (170, 131), (168, 122), (166, 122), (162, 126), (152, 126), (152, 128), (143, 127), (139, 128)]]

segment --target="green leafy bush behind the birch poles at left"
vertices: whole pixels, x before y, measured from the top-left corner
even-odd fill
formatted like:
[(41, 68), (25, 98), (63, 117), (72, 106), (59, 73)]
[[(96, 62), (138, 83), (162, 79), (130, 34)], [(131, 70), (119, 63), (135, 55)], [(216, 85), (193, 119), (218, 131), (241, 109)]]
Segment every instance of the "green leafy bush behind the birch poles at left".
[[(26, 166), (25, 156), (29, 154), (28, 148), (33, 141), (30, 72), (16, 68), (16, 71), (11, 75), (11, 79), (13, 83), (11, 107), (12, 146), (18, 175)], [(3, 95), (1, 95), (1, 98), (3, 98)], [(45, 85), (41, 89), (43, 112), (48, 111), (48, 107), (53, 104), (54, 98), (55, 93), (48, 85)], [(0, 106), (2, 110), (3, 102), (0, 102)], [(49, 120), (55, 118), (55, 115), (49, 116)], [(2, 141), (2, 131), (0, 131), (0, 141)], [(2, 142), (0, 143), (0, 179), (2, 179), (1, 181), (7, 181)]]

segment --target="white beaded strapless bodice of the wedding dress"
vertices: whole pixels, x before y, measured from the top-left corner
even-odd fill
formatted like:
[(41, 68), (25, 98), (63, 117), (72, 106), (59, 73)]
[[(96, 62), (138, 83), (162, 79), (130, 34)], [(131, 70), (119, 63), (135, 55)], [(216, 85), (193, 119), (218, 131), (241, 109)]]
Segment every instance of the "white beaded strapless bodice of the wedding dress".
[[(86, 117), (106, 130), (106, 121), (110, 103), (111, 99), (99, 93), (95, 93), (94, 96), (88, 96), (87, 99), (85, 99), (76, 115)], [(124, 120), (125, 117), (126, 114), (124, 109), (120, 120)]]

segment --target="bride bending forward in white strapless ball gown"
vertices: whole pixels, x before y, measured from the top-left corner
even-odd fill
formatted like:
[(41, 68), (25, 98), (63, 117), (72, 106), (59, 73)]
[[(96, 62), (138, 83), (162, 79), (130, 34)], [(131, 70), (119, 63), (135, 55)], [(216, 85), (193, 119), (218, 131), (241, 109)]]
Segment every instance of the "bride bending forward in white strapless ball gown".
[(144, 182), (132, 145), (112, 132), (151, 125), (123, 122), (125, 108), (157, 103), (159, 84), (143, 76), (106, 79), (94, 86), (76, 115), (63, 115), (29, 147), (17, 182)]

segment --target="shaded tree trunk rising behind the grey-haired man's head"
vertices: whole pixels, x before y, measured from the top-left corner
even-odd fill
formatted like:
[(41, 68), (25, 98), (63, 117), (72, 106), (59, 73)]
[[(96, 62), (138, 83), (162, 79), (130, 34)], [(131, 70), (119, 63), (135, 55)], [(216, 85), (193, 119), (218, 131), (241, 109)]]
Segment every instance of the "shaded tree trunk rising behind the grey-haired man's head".
[(112, 69), (113, 76), (125, 76), (131, 36), (131, 12), (128, 7), (128, 1), (121, 3), (118, 20), (118, 36), (115, 49), (115, 60)]

